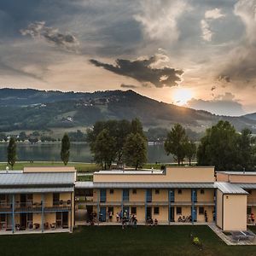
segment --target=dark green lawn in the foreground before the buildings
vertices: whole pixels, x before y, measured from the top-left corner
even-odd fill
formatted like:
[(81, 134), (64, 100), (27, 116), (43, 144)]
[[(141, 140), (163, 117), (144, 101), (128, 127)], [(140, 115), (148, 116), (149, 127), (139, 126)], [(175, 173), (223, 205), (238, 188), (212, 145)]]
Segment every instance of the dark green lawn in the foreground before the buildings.
[[(202, 250), (189, 234), (199, 236)], [(207, 226), (89, 226), (73, 234), (0, 236), (1, 255), (256, 255), (254, 246), (227, 246)]]

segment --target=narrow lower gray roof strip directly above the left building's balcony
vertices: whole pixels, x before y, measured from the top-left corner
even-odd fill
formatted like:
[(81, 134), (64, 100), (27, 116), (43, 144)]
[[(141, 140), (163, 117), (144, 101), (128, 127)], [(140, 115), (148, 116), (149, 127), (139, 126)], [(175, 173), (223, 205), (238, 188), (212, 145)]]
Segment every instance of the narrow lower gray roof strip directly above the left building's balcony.
[(0, 194), (73, 192), (73, 187), (0, 189)]

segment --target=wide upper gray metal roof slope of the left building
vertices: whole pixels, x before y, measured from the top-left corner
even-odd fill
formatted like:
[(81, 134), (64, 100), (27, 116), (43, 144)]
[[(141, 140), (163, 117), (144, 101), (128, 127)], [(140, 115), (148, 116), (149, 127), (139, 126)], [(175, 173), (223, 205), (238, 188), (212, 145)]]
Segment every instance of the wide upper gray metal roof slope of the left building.
[(74, 172), (0, 172), (0, 186), (72, 185)]

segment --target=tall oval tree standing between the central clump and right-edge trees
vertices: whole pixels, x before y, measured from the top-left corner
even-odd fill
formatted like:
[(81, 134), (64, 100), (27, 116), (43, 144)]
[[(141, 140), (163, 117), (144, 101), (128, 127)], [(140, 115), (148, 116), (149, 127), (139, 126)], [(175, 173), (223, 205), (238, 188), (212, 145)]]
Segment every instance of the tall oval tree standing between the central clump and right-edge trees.
[(167, 133), (165, 150), (168, 155), (173, 154), (174, 159), (177, 160), (178, 166), (180, 166), (186, 156), (187, 143), (188, 137), (182, 125), (174, 125), (172, 130)]

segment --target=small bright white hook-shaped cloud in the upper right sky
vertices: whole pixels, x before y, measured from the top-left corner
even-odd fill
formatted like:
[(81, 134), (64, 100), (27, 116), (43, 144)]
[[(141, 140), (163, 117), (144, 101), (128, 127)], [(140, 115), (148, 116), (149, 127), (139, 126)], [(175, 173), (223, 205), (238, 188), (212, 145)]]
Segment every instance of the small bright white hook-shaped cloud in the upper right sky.
[(207, 10), (205, 13), (205, 19), (201, 20), (201, 37), (207, 41), (210, 42), (212, 41), (212, 29), (209, 25), (209, 23), (211, 22), (211, 20), (218, 20), (222, 17), (224, 17), (225, 15), (223, 15), (221, 13), (221, 9), (215, 8), (215, 9), (210, 9)]

